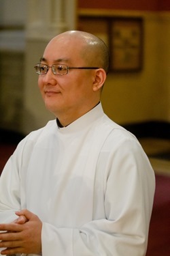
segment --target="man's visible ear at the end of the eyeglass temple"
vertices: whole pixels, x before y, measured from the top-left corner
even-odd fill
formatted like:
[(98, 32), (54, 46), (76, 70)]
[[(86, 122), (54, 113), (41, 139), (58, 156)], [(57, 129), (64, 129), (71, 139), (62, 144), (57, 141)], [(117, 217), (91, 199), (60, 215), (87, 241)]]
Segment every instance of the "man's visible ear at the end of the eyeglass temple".
[(105, 73), (105, 70), (103, 70), (103, 68), (99, 68), (95, 70), (94, 81), (92, 85), (93, 91), (99, 91), (99, 89), (103, 87), (103, 84), (105, 83), (105, 79), (106, 79), (106, 73)]

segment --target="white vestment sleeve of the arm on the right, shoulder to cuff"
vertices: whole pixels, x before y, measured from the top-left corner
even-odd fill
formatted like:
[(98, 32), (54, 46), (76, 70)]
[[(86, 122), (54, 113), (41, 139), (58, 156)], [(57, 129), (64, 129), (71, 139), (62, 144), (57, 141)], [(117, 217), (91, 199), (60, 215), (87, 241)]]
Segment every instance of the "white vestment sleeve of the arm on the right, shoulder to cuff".
[(44, 256), (146, 254), (155, 189), (150, 162), (141, 145), (133, 139), (118, 145), (106, 160), (104, 157), (98, 166), (103, 168), (99, 180), (103, 182), (105, 216), (85, 223), (80, 229), (57, 229), (44, 223)]

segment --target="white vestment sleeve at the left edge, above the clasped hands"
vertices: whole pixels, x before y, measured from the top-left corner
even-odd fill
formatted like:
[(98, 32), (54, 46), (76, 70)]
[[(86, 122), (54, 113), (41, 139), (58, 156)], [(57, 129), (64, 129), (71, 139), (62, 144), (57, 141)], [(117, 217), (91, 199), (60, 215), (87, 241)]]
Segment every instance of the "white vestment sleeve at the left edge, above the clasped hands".
[[(22, 156), (24, 144), (27, 139), (22, 140), (14, 154), (10, 156), (9, 160), (3, 169), (0, 177), (0, 223), (10, 223), (18, 218), (16, 211), (25, 208), (22, 204), (24, 201), (24, 188), (21, 181), (22, 162), (27, 159)], [(28, 152), (26, 152), (27, 155)]]

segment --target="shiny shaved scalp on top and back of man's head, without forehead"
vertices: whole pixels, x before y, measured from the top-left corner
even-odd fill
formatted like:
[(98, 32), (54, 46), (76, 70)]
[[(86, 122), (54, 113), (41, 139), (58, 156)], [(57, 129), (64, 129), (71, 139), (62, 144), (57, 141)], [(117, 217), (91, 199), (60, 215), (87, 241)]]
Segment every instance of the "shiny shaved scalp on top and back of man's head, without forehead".
[(56, 35), (50, 42), (55, 40), (65, 40), (66, 47), (69, 41), (74, 40), (75, 48), (80, 46), (80, 57), (84, 59), (87, 66), (103, 68), (106, 73), (109, 71), (108, 48), (97, 36), (84, 31), (66, 31)]

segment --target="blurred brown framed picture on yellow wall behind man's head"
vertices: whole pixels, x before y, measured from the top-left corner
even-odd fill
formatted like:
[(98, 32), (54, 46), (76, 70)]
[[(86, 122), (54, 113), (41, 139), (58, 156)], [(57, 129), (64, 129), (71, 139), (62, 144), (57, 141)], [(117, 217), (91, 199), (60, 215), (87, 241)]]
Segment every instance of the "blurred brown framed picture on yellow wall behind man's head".
[(109, 20), (110, 70), (134, 72), (142, 68), (143, 20), (112, 18)]

